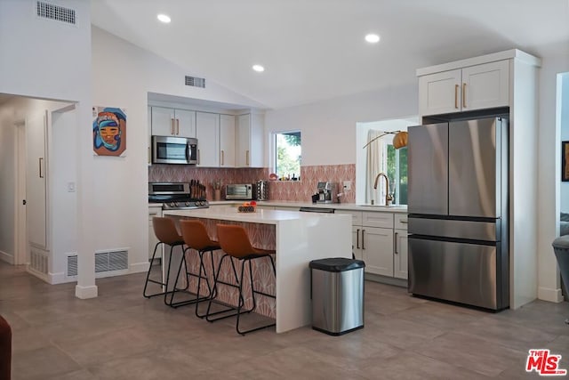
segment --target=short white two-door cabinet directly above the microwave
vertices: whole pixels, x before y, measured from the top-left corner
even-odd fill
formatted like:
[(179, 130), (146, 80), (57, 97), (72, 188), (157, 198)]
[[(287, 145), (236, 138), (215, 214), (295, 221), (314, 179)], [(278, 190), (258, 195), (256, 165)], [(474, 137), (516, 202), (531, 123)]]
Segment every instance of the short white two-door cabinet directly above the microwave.
[(152, 134), (196, 137), (196, 111), (152, 107)]

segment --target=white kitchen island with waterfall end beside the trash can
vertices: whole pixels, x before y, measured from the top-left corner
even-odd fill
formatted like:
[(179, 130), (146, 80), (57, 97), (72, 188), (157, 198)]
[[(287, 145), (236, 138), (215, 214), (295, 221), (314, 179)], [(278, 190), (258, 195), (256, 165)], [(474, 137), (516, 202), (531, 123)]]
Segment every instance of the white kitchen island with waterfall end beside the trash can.
[(254, 246), (276, 249), (276, 332), (283, 333), (311, 322), (310, 270), (312, 260), (351, 257), (351, 216), (263, 210), (239, 213), (233, 206), (196, 210), (164, 210), (176, 220), (197, 218), (216, 239), (214, 225), (242, 224)]

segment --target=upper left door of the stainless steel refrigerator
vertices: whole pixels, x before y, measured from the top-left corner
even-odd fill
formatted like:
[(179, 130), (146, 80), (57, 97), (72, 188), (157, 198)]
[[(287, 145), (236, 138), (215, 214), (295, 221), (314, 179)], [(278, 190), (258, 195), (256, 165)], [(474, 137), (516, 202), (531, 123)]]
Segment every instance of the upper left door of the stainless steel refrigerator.
[(448, 214), (448, 124), (410, 126), (408, 211)]

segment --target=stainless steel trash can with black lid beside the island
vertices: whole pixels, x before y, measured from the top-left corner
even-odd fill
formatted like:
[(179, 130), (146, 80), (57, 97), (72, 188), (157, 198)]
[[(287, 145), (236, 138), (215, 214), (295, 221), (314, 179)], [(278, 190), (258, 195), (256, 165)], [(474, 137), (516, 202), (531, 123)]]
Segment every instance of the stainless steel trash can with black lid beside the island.
[(343, 257), (310, 262), (312, 328), (341, 336), (364, 327), (364, 268)]

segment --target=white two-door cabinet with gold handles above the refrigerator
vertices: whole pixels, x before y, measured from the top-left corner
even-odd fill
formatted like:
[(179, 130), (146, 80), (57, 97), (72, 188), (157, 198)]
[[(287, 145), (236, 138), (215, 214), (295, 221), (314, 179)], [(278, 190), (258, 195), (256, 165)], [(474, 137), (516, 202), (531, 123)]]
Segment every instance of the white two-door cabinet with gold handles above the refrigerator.
[(422, 116), (509, 106), (509, 60), (417, 73)]

